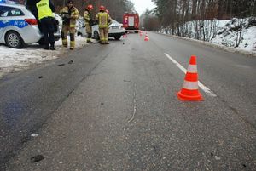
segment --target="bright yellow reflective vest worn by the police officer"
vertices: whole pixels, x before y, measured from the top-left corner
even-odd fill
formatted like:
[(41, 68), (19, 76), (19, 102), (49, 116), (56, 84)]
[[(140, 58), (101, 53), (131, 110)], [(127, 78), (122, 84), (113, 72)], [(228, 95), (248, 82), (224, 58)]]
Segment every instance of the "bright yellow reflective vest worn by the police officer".
[(53, 17), (51, 9), (49, 8), (49, 0), (41, 0), (37, 3), (38, 8), (38, 19), (41, 20), (44, 17)]

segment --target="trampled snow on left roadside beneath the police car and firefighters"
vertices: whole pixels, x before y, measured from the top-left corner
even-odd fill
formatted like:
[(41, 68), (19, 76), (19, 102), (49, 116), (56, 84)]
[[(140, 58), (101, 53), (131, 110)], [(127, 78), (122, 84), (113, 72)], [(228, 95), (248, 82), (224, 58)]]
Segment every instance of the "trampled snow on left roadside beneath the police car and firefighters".
[[(75, 37), (76, 48), (86, 45), (85, 37)], [(33, 65), (43, 63), (47, 60), (59, 58), (61, 54), (69, 51), (69, 48), (61, 47), (61, 39), (55, 42), (56, 50), (44, 50), (38, 44), (28, 45), (26, 48), (8, 48), (0, 45), (0, 78), (9, 72), (23, 71)]]

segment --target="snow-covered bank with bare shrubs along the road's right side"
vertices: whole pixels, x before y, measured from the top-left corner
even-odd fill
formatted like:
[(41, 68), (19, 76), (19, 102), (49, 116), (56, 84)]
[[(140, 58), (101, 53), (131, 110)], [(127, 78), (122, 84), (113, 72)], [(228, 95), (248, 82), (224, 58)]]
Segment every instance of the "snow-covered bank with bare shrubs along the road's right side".
[[(256, 55), (256, 18), (232, 20), (195, 20), (180, 26), (174, 33), (180, 32), (183, 39), (191, 39), (225, 48), (243, 54)], [(171, 28), (162, 28), (160, 33), (172, 35)], [(202, 42), (207, 40), (208, 42)], [(213, 44), (212, 44), (213, 43)]]

